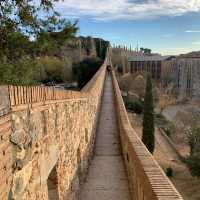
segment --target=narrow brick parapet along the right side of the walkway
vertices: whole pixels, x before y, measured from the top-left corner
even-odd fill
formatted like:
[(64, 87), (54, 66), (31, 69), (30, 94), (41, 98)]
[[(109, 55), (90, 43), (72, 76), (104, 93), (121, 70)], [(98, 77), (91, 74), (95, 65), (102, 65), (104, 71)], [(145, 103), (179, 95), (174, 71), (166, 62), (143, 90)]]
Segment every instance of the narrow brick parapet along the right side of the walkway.
[(132, 129), (114, 72), (112, 79), (121, 145), (132, 199), (183, 200)]

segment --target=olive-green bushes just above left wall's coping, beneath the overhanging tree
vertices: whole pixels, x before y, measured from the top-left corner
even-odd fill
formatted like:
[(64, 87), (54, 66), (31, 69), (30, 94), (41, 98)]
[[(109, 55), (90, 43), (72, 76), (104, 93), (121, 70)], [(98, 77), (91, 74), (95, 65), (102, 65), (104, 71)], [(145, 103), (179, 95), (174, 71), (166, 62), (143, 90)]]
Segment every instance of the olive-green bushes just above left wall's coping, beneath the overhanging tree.
[(56, 57), (38, 59), (23, 56), (15, 62), (0, 60), (0, 83), (12, 85), (35, 85), (49, 81), (70, 80), (72, 72), (68, 60)]

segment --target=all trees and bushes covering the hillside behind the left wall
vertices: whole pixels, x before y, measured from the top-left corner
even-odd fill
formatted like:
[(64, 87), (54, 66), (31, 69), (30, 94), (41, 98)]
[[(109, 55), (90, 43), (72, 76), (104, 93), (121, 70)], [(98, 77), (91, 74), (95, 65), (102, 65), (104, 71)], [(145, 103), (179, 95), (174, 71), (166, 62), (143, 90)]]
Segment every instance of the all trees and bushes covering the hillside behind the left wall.
[(0, 2), (0, 84), (77, 81), (79, 63), (104, 59), (108, 42), (76, 37), (78, 22), (62, 19), (54, 11), (54, 1), (33, 2)]

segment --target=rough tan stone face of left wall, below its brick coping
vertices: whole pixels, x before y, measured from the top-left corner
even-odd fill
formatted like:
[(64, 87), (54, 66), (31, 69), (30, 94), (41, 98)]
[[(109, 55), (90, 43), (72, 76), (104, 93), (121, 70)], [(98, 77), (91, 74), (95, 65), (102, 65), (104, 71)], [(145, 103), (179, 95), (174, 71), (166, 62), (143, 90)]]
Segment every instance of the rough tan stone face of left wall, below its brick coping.
[[(50, 196), (55, 191), (60, 200), (78, 198), (93, 152), (104, 78), (103, 66), (95, 82), (82, 91), (85, 98), (55, 101), (45, 106), (31, 103), (23, 109), (17, 109), (18, 104), (14, 107), (17, 111), (11, 113), (13, 179), (10, 198), (47, 200), (48, 186), (52, 184), (56, 185), (52, 186), (53, 191), (49, 190)], [(50, 174), (55, 167), (52, 180)], [(49, 185), (48, 180), (51, 181)]]

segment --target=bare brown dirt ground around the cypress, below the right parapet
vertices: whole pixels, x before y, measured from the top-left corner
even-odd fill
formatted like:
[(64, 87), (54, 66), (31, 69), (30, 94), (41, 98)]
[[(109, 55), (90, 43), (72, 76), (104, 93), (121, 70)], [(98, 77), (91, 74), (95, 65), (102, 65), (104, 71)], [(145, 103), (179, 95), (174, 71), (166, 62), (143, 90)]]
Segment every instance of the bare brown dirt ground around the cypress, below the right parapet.
[[(128, 115), (132, 127), (141, 136), (141, 118), (132, 113)], [(173, 169), (171, 181), (185, 200), (200, 200), (200, 180), (191, 176), (187, 166), (179, 160), (176, 153), (157, 129), (154, 157), (164, 171), (168, 167)]]

